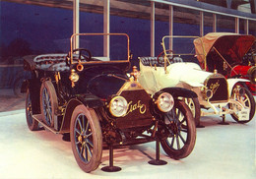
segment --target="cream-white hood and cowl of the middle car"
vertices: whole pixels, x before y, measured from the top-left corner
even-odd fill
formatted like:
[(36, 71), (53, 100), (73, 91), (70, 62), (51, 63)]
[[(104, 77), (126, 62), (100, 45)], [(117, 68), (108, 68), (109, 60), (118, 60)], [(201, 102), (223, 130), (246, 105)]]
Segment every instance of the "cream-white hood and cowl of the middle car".
[(191, 87), (203, 87), (205, 80), (213, 73), (203, 71), (198, 64), (174, 63), (164, 67), (144, 66), (140, 63), (140, 84), (150, 93), (160, 89), (176, 87), (179, 83), (186, 83)]

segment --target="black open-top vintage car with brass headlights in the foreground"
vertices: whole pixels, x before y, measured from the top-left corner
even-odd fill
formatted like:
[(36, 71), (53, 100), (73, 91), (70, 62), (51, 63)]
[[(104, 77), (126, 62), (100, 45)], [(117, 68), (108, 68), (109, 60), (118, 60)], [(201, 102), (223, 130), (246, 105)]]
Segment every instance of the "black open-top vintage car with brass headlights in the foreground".
[[(86, 48), (74, 49), (75, 39)], [(110, 40), (105, 56), (104, 40)], [(85, 172), (96, 170), (103, 146), (109, 149), (109, 166), (103, 171), (120, 170), (113, 165), (113, 149), (120, 146), (156, 141), (152, 164), (165, 163), (160, 160), (160, 145), (171, 158), (189, 155), (196, 141), (195, 122), (178, 97), (196, 94), (180, 88), (149, 94), (137, 81), (137, 68), (128, 73), (130, 58), (125, 33), (79, 33), (71, 36), (68, 54), (26, 59), (24, 68), (32, 78), (22, 91), (27, 91), (30, 130), (40, 124), (55, 134), (70, 135), (77, 163)]]

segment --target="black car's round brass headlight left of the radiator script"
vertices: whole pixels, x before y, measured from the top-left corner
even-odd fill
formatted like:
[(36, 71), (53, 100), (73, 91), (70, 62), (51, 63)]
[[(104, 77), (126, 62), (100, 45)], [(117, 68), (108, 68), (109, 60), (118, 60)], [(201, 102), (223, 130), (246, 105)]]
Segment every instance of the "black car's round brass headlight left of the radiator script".
[(127, 112), (128, 104), (124, 97), (115, 96), (109, 103), (109, 111), (115, 117), (124, 116)]

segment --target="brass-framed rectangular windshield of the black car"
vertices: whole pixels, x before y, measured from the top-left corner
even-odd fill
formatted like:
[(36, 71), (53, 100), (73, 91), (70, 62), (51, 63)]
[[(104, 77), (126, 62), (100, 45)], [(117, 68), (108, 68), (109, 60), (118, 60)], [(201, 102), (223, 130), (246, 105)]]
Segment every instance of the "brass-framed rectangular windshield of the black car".
[[(72, 63), (80, 53), (82, 63), (129, 61), (129, 36), (125, 33), (76, 33), (70, 42)], [(90, 59), (83, 60), (85, 56)]]

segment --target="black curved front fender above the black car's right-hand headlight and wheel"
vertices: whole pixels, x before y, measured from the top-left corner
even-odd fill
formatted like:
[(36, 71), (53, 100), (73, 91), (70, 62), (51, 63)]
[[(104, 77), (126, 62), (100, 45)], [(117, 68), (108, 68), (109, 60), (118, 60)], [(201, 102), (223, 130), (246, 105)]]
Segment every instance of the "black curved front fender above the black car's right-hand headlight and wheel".
[(170, 93), (174, 98), (177, 98), (177, 97), (196, 98), (197, 97), (196, 92), (190, 89), (176, 87), (176, 88), (160, 89), (159, 92), (161, 91)]

